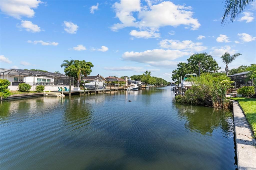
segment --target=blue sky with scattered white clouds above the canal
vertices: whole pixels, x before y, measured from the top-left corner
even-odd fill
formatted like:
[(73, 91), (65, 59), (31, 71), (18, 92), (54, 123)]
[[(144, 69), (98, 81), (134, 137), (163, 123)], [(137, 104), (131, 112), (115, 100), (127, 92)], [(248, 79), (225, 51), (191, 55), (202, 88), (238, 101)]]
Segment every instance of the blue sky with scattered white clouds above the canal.
[(221, 26), (222, 1), (1, 1), (1, 68), (60, 71), (64, 59), (93, 63), (91, 75), (151, 70), (171, 81), (193, 53), (241, 53), (256, 63), (255, 1)]

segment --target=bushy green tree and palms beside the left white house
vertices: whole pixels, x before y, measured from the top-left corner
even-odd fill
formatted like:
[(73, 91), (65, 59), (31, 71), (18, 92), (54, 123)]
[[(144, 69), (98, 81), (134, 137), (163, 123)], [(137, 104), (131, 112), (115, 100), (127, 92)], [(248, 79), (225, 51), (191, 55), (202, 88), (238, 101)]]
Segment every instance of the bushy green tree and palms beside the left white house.
[(60, 68), (64, 67), (64, 72), (69, 77), (74, 77), (77, 87), (81, 84), (81, 79), (92, 72), (93, 64), (85, 60), (64, 60)]

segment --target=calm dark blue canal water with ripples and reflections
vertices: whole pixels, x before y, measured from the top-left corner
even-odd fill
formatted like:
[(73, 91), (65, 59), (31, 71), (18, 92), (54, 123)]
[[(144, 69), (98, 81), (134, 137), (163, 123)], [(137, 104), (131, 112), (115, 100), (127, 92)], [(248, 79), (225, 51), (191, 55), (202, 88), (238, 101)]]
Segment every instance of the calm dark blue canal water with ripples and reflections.
[(177, 104), (170, 87), (0, 106), (1, 170), (237, 167), (232, 113)]

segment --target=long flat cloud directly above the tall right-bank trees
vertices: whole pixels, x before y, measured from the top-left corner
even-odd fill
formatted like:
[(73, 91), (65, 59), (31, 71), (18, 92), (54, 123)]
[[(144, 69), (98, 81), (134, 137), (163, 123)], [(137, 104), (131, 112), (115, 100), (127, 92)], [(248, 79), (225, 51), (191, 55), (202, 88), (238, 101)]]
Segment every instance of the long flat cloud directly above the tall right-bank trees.
[(201, 42), (193, 42), (190, 40), (178, 41), (178, 40), (162, 40), (160, 41), (160, 46), (162, 48), (169, 48), (172, 50), (184, 50), (191, 52), (200, 52), (206, 50), (206, 46), (202, 46)]

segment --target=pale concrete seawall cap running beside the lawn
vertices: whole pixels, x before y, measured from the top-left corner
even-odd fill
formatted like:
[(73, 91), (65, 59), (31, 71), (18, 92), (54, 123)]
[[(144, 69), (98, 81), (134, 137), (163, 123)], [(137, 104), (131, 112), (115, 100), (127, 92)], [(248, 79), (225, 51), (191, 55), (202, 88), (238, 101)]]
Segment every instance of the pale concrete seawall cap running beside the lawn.
[(233, 101), (238, 169), (256, 169), (256, 141), (237, 101)]

